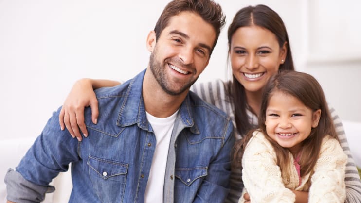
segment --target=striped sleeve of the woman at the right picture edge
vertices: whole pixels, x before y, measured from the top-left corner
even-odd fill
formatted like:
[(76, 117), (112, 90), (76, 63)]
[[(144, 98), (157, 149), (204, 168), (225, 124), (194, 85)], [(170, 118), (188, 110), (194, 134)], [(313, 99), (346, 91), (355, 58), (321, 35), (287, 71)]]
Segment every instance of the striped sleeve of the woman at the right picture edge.
[(348, 156), (346, 171), (345, 171), (345, 184), (346, 184), (346, 200), (345, 203), (361, 203), (361, 181), (359, 173), (356, 169), (356, 164), (352, 158), (350, 148), (348, 146), (346, 134), (343, 130), (342, 121), (336, 114), (334, 108), (328, 106), (333, 123), (336, 128), (337, 135), (339, 137), (343, 152)]

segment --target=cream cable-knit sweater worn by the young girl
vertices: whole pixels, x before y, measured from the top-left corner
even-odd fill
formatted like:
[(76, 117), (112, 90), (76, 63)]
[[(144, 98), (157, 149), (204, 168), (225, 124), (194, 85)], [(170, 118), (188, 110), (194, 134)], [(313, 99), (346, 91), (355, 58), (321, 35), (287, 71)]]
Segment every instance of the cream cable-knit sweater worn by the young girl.
[[(276, 153), (266, 136), (254, 131), (242, 157), (242, 180), (252, 202), (294, 203), (291, 189), (309, 192), (309, 203), (344, 202), (347, 155), (336, 139), (329, 135), (324, 137), (315, 167), (302, 175), (299, 183), (292, 154), (289, 152), (290, 162), (284, 169), (290, 175), (287, 177), (285, 172), (281, 173)], [(243, 202), (241, 198), (239, 203)]]

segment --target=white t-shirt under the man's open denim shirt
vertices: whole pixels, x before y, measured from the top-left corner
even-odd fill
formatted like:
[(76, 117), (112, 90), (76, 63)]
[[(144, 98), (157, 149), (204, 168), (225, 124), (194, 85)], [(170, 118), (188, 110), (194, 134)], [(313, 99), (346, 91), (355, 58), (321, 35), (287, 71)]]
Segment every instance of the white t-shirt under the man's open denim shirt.
[(157, 140), (148, 183), (145, 189), (145, 203), (162, 203), (169, 142), (178, 110), (167, 118), (157, 118), (150, 115), (148, 112), (145, 113)]

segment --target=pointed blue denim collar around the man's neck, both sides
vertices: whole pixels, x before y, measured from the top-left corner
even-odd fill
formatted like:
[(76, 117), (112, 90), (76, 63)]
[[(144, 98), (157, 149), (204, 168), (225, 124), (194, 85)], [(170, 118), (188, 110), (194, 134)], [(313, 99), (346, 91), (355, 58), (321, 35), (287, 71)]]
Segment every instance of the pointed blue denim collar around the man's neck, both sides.
[[(142, 95), (145, 71), (146, 69), (144, 69), (129, 82), (124, 101), (118, 114), (118, 126), (126, 127), (137, 123), (139, 128), (150, 131), (149, 124), (146, 119), (144, 100)], [(181, 104), (177, 119), (181, 119), (184, 127), (190, 128), (192, 133), (199, 134), (199, 128), (194, 122), (194, 116), (191, 111), (191, 99), (189, 93)]]

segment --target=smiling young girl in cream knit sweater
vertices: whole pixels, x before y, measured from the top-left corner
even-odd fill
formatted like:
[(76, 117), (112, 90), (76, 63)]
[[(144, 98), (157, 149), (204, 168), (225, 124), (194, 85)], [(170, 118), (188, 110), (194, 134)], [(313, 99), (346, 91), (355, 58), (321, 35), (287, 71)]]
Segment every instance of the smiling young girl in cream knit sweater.
[(322, 88), (307, 73), (271, 77), (262, 95), (259, 129), (235, 145), (234, 156), (252, 202), (293, 203), (292, 190), (308, 191), (310, 203), (345, 201), (347, 156)]

